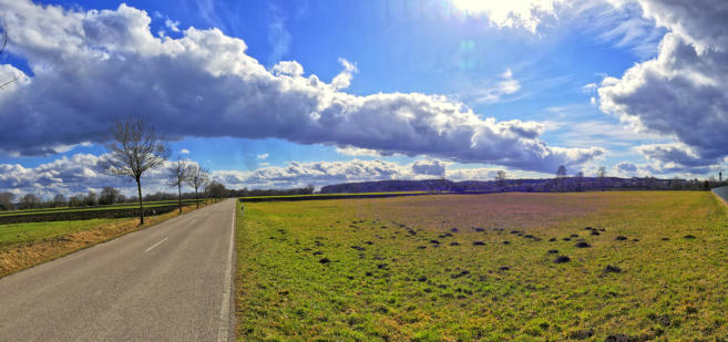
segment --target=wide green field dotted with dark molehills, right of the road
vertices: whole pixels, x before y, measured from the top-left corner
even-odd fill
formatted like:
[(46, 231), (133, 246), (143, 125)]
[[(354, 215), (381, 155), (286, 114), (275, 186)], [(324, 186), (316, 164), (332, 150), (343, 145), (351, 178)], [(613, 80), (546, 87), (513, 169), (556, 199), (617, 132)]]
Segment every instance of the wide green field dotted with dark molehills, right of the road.
[[(728, 335), (728, 213), (709, 193), (245, 208), (237, 231), (244, 341)], [(555, 263), (558, 256), (570, 261)]]

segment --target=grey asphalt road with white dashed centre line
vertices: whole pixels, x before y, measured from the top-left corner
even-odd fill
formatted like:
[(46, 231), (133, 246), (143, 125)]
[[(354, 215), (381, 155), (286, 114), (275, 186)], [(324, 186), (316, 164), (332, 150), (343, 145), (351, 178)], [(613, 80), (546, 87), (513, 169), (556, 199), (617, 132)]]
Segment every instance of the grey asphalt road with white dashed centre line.
[(0, 279), (0, 341), (232, 341), (235, 200)]

